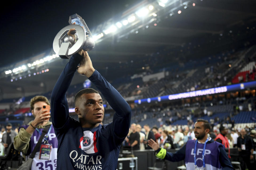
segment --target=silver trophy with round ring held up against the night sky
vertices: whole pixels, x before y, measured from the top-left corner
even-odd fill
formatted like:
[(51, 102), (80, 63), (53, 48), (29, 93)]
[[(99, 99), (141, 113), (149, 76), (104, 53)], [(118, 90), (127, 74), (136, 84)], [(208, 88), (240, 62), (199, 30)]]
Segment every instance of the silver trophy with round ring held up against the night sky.
[[(75, 24), (73, 24), (75, 22)], [(53, 40), (53, 50), (61, 58), (69, 59), (73, 54), (80, 49), (90, 51), (94, 48), (95, 43), (92, 39), (91, 32), (85, 21), (78, 14), (69, 16), (69, 24), (57, 33)], [(67, 35), (69, 29), (75, 28), (71, 34)], [(75, 37), (75, 39), (73, 38)]]

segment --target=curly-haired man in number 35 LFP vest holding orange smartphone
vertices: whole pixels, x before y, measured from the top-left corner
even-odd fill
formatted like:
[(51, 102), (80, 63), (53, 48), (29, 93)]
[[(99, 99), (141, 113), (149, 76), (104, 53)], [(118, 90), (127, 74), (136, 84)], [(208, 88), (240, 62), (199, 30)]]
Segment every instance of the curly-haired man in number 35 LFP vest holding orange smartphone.
[(46, 137), (41, 144), (41, 147), (49, 146), (47, 155), (42, 156), (43, 153), (40, 152), (40, 147), (39, 151), (35, 154), (31, 169), (45, 169), (47, 167), (55, 169), (57, 163), (58, 140), (52, 122), (49, 121), (49, 118), (51, 117), (50, 103), (45, 96), (35, 96), (30, 100), (30, 108), (35, 119), (30, 121), (27, 125), (19, 127), (19, 133), (14, 138), (14, 148), (18, 151), (22, 151), (24, 158), (29, 156), (33, 152), (43, 129), (50, 125)]

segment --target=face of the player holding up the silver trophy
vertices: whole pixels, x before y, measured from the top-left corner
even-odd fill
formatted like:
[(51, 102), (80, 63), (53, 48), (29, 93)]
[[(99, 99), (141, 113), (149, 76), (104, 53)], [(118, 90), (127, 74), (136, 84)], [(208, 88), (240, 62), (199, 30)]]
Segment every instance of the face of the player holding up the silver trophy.
[(78, 105), (81, 117), (89, 124), (97, 124), (103, 121), (104, 107), (101, 95), (98, 93), (83, 94)]

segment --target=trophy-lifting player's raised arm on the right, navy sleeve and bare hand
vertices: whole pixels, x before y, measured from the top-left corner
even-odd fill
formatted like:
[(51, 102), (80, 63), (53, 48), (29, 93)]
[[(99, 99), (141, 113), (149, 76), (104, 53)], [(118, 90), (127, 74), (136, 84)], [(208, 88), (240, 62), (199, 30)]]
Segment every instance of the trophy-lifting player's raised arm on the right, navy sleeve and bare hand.
[(93, 68), (87, 52), (85, 52), (85, 57), (81, 61), (77, 71), (89, 78), (116, 112), (111, 125), (115, 135), (118, 138), (126, 137), (131, 122), (131, 108), (129, 104), (123, 99), (119, 92)]

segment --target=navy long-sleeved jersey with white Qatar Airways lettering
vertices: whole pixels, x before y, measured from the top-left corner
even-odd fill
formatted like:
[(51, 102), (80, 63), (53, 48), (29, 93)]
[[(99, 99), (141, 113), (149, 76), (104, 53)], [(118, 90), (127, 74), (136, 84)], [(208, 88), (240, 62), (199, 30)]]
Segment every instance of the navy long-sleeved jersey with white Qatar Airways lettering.
[(116, 112), (113, 122), (90, 129), (71, 118), (65, 93), (82, 59), (79, 54), (70, 58), (51, 94), (51, 116), (58, 139), (57, 169), (114, 170), (121, 143), (129, 132), (131, 108), (95, 70), (89, 80)]

